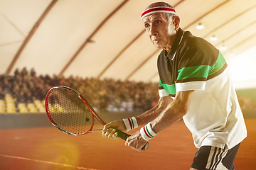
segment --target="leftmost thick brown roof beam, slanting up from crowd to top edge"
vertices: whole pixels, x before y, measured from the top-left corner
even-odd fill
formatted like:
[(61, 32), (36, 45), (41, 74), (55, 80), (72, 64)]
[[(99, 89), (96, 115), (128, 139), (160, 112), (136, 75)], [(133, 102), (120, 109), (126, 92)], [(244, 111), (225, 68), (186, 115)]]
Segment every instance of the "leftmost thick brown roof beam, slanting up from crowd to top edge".
[(47, 14), (50, 12), (50, 10), (53, 8), (53, 6), (56, 4), (58, 0), (53, 0), (50, 2), (50, 4), (48, 5), (48, 7), (46, 8), (46, 10), (43, 12), (43, 14), (41, 15), (41, 17), (38, 19), (38, 21), (36, 21), (36, 23), (33, 25), (33, 28), (30, 30), (30, 32), (28, 33), (28, 36), (26, 37), (26, 39), (23, 41), (21, 47), (18, 49), (18, 52), (16, 52), (16, 55), (14, 56), (14, 59), (11, 61), (11, 64), (9, 65), (9, 67), (6, 69), (6, 73), (5, 74), (10, 74), (11, 70), (14, 68), (14, 65), (16, 64), (18, 58), (20, 57), (21, 53), (23, 52), (23, 50), (25, 49), (26, 45), (28, 44), (29, 40), (31, 40), (31, 38), (33, 37), (33, 35), (36, 33), (36, 30), (38, 29), (38, 27), (40, 26), (40, 24), (42, 23), (43, 19), (46, 18)]

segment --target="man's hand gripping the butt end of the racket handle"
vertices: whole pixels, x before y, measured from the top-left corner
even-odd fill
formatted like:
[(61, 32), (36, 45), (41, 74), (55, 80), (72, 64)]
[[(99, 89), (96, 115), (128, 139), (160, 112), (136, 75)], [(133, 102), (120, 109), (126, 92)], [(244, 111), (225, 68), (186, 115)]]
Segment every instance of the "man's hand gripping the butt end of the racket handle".
[(125, 145), (141, 152), (142, 147), (146, 145), (146, 140), (144, 140), (140, 132), (137, 131), (132, 136), (127, 138), (127, 140), (125, 141)]

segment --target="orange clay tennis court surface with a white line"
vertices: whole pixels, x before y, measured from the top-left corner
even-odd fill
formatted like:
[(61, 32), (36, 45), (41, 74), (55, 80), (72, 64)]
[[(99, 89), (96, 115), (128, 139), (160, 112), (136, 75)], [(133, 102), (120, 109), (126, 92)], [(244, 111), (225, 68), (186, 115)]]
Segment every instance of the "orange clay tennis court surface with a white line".
[[(247, 138), (235, 159), (236, 170), (256, 169), (256, 119), (245, 123)], [(124, 140), (102, 137), (100, 132), (72, 136), (54, 127), (18, 128), (0, 130), (0, 136), (1, 170), (186, 170), (197, 151), (182, 120), (149, 140), (144, 152), (125, 147)]]

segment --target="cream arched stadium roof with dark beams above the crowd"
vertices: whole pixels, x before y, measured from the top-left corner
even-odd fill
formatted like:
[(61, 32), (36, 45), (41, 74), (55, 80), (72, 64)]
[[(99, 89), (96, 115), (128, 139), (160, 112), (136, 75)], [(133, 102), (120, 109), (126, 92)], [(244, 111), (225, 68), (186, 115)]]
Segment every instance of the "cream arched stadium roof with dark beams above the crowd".
[[(1, 0), (0, 74), (26, 67), (65, 77), (158, 81), (161, 50), (151, 44), (140, 18), (152, 2)], [(176, 9), (183, 30), (211, 42), (227, 60), (256, 46), (255, 0), (166, 2)], [(217, 40), (210, 40), (213, 36)]]

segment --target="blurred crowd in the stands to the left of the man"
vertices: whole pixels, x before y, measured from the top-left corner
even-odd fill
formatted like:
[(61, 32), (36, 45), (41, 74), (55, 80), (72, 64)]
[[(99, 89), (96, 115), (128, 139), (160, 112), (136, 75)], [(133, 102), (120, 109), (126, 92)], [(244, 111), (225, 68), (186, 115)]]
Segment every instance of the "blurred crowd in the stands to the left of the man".
[(114, 79), (68, 78), (36, 75), (34, 69), (16, 69), (14, 75), (0, 75), (0, 99), (11, 94), (18, 103), (43, 101), (53, 86), (69, 86), (85, 96), (98, 111), (146, 111), (156, 105), (158, 84)]

